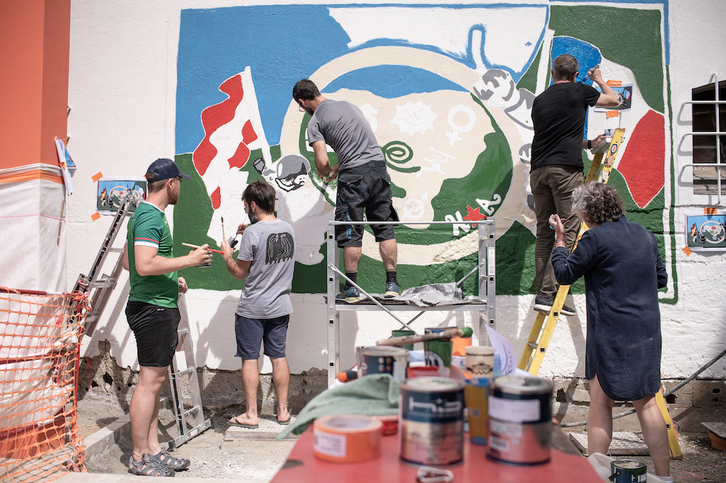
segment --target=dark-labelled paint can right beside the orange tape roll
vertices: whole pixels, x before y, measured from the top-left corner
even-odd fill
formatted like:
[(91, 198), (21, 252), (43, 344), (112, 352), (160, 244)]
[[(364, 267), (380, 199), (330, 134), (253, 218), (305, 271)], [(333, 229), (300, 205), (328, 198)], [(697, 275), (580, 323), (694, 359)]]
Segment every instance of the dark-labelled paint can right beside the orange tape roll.
[(401, 384), (398, 448), (407, 463), (460, 463), (464, 459), (464, 383), (417, 377)]

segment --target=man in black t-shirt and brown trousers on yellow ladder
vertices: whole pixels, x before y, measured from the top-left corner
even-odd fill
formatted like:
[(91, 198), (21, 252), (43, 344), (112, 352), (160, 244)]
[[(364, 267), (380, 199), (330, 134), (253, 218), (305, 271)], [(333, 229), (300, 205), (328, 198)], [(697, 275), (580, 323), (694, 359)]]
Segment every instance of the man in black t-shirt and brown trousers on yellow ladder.
[[(577, 59), (569, 54), (558, 56), (552, 62), (554, 83), (532, 104), (534, 140), (532, 141), (532, 169), (529, 183), (534, 196), (537, 217), (535, 245), (535, 285), (537, 296), (534, 309), (549, 313), (557, 294), (557, 281), (552, 271), (550, 255), (555, 244), (549, 218), (557, 213), (567, 229), (567, 249), (572, 250), (582, 220), (572, 212), (572, 192), (584, 183), (582, 150), (590, 149), (605, 139), (603, 134), (592, 141), (584, 140), (587, 108), (615, 107), (618, 96), (605, 83), (600, 69), (594, 67), (588, 76), (595, 88), (575, 82), (578, 74)], [(575, 315), (567, 305), (563, 315)]]

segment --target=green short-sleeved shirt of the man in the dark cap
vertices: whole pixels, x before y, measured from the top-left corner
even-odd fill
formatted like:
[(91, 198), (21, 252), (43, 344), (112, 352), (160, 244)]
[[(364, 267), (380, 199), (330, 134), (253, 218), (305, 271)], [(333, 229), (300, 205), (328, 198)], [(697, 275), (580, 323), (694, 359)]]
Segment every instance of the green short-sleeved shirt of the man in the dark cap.
[(147, 246), (156, 248), (162, 257), (173, 258), (171, 251), (174, 241), (164, 212), (151, 203), (141, 202), (129, 220), (126, 237), (131, 284), (129, 300), (175, 308), (179, 298), (177, 273), (141, 276), (136, 271), (134, 257), (136, 247)]

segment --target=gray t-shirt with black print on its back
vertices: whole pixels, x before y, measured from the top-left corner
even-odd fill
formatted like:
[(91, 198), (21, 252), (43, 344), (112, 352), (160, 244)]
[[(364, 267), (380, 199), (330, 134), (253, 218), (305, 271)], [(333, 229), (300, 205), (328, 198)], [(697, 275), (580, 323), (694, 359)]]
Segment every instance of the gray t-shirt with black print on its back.
[(295, 233), (282, 220), (258, 221), (242, 235), (239, 260), (251, 261), (237, 315), (273, 319), (292, 313), (290, 291), (295, 268)]

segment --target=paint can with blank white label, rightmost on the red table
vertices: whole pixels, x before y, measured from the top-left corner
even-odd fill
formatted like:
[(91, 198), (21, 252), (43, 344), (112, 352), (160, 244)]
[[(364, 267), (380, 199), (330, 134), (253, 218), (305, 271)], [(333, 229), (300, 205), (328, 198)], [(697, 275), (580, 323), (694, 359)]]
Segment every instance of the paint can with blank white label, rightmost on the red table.
[(517, 465), (550, 460), (553, 389), (539, 377), (509, 374), (491, 380), (487, 457)]

